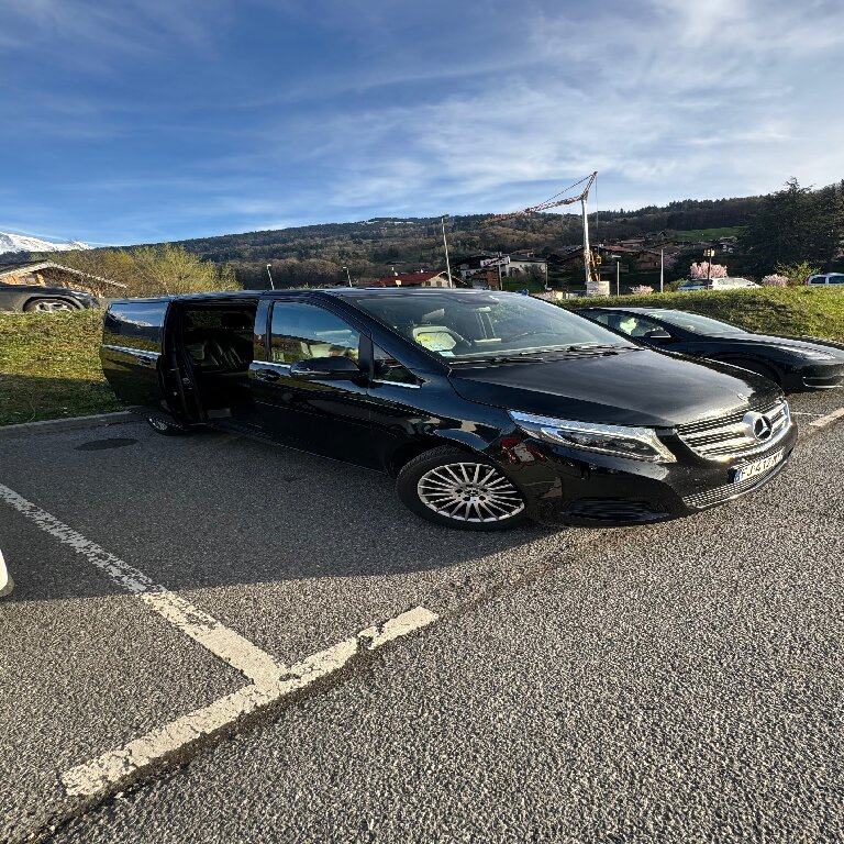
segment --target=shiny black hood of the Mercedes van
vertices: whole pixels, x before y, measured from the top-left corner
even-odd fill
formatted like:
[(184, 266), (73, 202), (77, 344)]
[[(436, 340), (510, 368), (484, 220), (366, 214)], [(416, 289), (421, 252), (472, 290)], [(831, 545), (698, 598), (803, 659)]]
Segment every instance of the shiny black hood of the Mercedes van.
[(674, 427), (773, 400), (770, 381), (715, 362), (643, 349), (619, 355), (452, 369), (469, 401), (546, 417), (643, 427)]

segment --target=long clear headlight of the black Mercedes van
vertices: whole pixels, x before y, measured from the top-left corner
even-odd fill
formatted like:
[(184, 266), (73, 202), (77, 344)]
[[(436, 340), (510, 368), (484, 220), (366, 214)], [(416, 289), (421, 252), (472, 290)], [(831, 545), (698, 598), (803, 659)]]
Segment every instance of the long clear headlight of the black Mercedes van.
[(534, 417), (509, 410), (510, 419), (531, 436), (581, 452), (598, 452), (617, 457), (633, 457), (651, 463), (676, 463), (677, 458), (665, 447), (652, 427), (598, 425), (591, 422), (570, 422), (565, 419)]

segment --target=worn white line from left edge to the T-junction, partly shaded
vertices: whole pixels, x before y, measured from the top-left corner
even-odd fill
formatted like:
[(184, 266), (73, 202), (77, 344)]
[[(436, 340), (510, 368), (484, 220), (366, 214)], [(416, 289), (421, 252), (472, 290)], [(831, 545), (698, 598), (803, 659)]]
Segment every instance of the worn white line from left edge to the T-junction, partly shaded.
[(284, 666), (216, 619), (156, 584), (143, 571), (110, 554), (69, 525), (0, 484), (0, 499), (34, 522), (42, 531), (69, 545), (104, 573), (121, 589), (136, 596), (149, 609), (190, 636), (214, 656), (229, 663), (253, 682), (268, 681), (284, 674)]

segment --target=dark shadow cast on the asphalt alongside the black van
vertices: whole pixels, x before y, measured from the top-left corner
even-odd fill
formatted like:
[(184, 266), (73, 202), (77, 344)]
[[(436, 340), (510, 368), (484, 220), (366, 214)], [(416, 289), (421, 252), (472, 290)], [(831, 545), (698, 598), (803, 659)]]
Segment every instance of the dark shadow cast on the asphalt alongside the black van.
[[(406, 510), (385, 475), (220, 431), (162, 437), (131, 424), (0, 441), (0, 482), (176, 590), (447, 569), (553, 532), (440, 528)], [(25, 521), (2, 502), (0, 517)], [(14, 532), (0, 541), (11, 600), (113, 591), (79, 576), (67, 546), (55, 543), (65, 562), (54, 565)]]

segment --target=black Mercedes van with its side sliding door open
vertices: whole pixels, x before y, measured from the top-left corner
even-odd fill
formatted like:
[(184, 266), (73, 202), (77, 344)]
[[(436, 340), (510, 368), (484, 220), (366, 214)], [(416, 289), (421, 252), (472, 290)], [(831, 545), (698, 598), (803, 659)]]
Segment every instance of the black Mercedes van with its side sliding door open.
[(765, 378), (518, 293), (127, 299), (101, 359), (162, 434), (214, 425), (386, 471), (414, 513), (476, 531), (689, 514), (764, 485), (797, 436)]

